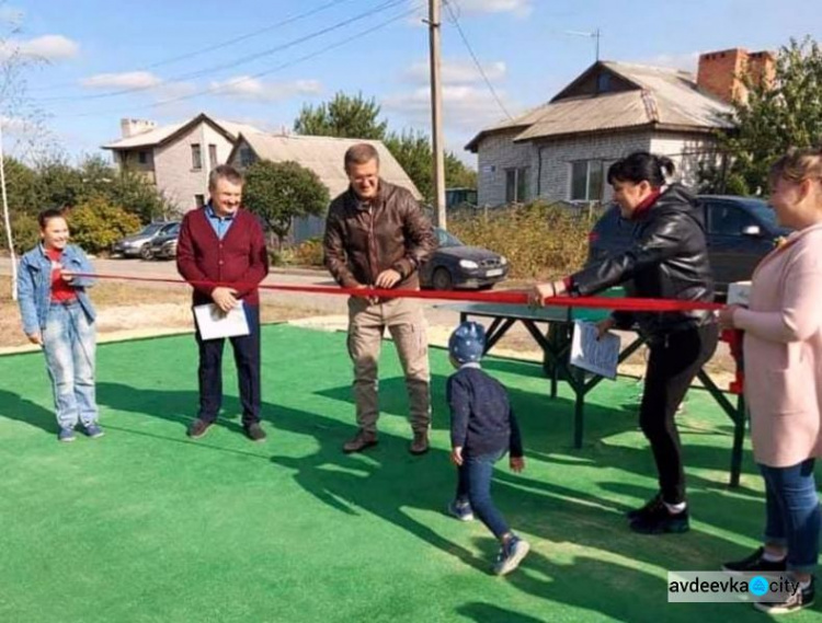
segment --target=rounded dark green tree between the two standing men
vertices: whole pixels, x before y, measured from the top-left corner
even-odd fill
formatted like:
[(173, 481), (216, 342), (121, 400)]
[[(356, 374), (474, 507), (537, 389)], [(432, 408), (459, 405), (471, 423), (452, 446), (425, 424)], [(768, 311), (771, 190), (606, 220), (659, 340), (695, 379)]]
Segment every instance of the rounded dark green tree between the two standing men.
[(265, 221), (281, 247), (294, 218), (320, 216), (329, 200), (317, 174), (296, 162), (261, 160), (246, 170), (242, 203)]

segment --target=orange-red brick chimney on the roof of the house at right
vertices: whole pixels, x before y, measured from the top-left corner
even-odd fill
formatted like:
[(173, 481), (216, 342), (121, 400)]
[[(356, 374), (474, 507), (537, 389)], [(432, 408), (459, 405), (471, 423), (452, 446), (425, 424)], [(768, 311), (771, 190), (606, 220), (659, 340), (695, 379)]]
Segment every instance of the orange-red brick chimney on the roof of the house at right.
[(723, 102), (744, 102), (745, 76), (772, 84), (776, 77), (776, 57), (770, 51), (749, 53), (744, 48), (709, 51), (699, 56), (696, 83)]

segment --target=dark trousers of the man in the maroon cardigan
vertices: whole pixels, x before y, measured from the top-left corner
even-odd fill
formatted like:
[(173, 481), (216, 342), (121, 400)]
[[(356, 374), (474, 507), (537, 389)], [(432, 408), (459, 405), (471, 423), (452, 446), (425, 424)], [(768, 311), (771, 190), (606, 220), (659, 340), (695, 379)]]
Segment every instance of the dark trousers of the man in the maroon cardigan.
[[(260, 406), (262, 403), (260, 391), (260, 308), (244, 305), (246, 318), (249, 323), (249, 334), (229, 337), (235, 351), (237, 365), (237, 380), (242, 404), (242, 425), (260, 422)], [(222, 348), (225, 338), (199, 338), (199, 413), (197, 417), (205, 422), (214, 422), (222, 405)]]

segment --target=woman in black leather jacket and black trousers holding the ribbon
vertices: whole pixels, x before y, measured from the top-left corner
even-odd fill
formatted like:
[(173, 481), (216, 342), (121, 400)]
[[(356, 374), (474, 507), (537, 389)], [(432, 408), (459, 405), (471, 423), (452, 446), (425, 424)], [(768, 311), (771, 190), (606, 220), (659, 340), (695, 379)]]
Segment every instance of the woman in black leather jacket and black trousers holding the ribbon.
[[(532, 304), (552, 296), (595, 295), (619, 284), (632, 297), (712, 301), (704, 211), (687, 188), (666, 184), (665, 173), (673, 172), (669, 158), (647, 152), (615, 162), (608, 184), (623, 218), (635, 223), (630, 249), (563, 280), (535, 286)], [(660, 492), (628, 512), (630, 528), (647, 534), (685, 532), (685, 473), (674, 416), (713, 355), (718, 328), (710, 312), (614, 312), (600, 323), (600, 335), (631, 326), (648, 338), (650, 349), (639, 423), (651, 443)]]

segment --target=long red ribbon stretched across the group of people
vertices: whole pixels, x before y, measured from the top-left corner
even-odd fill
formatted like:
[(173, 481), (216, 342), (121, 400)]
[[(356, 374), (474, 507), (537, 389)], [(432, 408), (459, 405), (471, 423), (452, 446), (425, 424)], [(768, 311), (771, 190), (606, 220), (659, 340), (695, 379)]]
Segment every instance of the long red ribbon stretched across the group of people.
[[(179, 284), (193, 287), (225, 287), (238, 290), (277, 290), (285, 292), (306, 292), (313, 295), (358, 296), (380, 299), (433, 299), (475, 303), (496, 304), (527, 304), (528, 293), (522, 290), (502, 290), (492, 292), (454, 292), (432, 290), (400, 290), (380, 288), (341, 288), (336, 286), (286, 286), (277, 284), (220, 284), (217, 281), (184, 281), (182, 279), (167, 279), (161, 277), (124, 277), (122, 275), (100, 275), (76, 273), (78, 277), (94, 279), (119, 279), (124, 281), (150, 281), (156, 284)], [(671, 299), (639, 299), (609, 297), (548, 297), (546, 305), (567, 308), (607, 309), (630, 312), (682, 312), (682, 311), (717, 311), (724, 305), (701, 301), (677, 301)]]

